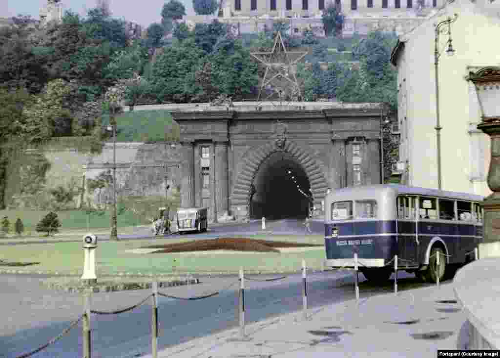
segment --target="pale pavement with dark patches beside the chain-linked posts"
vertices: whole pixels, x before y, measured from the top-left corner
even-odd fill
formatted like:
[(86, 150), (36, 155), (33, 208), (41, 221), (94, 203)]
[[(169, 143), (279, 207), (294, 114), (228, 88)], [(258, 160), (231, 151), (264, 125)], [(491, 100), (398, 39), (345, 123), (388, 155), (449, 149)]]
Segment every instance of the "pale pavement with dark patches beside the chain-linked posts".
[[(427, 286), (290, 313), (206, 336), (158, 352), (158, 357), (435, 357), (456, 349), (465, 315), (453, 283)], [(462, 333), (463, 334), (463, 333)], [(144, 357), (150, 358), (151, 355)]]

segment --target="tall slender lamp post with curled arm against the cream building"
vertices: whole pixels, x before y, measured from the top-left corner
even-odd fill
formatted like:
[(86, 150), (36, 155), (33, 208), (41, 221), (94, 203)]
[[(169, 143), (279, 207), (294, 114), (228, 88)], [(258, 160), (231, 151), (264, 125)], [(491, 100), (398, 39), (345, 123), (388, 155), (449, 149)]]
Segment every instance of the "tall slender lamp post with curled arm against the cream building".
[(441, 21), (439, 24), (435, 25), (434, 29), (434, 74), (435, 74), (435, 94), (436, 94), (436, 146), (437, 146), (437, 187), (439, 190), (442, 189), (441, 183), (441, 129), (439, 122), (439, 57), (442, 51), (439, 52), (439, 34), (441, 33), (441, 28), (448, 27), (448, 48), (446, 49), (446, 54), (452, 56), (455, 52), (453, 46), (451, 45), (451, 24), (456, 21), (458, 15), (455, 14), (453, 18), (449, 17), (446, 20)]

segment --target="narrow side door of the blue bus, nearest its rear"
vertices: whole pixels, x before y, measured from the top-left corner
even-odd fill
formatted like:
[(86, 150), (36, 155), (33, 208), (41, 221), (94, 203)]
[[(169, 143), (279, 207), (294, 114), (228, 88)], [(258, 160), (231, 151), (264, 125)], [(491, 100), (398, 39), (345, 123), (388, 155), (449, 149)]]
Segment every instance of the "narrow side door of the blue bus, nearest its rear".
[(401, 264), (418, 262), (418, 238), (416, 231), (415, 196), (400, 195), (397, 197), (397, 247)]

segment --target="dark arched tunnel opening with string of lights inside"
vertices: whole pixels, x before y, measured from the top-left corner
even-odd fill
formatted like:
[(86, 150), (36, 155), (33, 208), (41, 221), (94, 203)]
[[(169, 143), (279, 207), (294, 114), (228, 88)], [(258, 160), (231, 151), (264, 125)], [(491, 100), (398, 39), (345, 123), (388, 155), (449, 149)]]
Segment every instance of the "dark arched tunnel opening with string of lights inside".
[(286, 152), (269, 155), (252, 182), (250, 217), (270, 220), (303, 219), (312, 207), (307, 175)]

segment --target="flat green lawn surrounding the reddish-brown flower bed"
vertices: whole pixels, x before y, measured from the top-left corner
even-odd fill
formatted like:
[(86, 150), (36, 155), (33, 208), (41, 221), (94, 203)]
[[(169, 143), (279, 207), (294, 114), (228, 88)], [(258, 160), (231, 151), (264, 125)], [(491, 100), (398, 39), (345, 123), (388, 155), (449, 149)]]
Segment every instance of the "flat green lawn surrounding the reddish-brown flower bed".
[[(287, 242), (323, 243), (321, 235), (286, 236), (255, 235), (254, 239)], [(97, 275), (118, 274), (169, 274), (229, 272), (237, 273), (240, 266), (245, 271), (292, 272), (301, 267), (305, 259), (307, 267), (319, 269), (325, 258), (324, 248), (293, 253), (237, 253), (237, 254), (134, 254), (125, 252), (134, 248), (173, 242), (192, 241), (193, 238), (160, 238), (152, 240), (133, 240), (121, 242), (100, 242), (96, 249)], [(59, 274), (81, 274), (83, 267), (83, 249), (79, 242), (50, 244), (30, 244), (3, 246), (0, 259), (16, 262), (40, 262), (38, 265), (16, 267), (22, 271), (58, 272)], [(175, 260), (175, 262), (174, 262)], [(0, 269), (12, 267), (0, 266)]]

